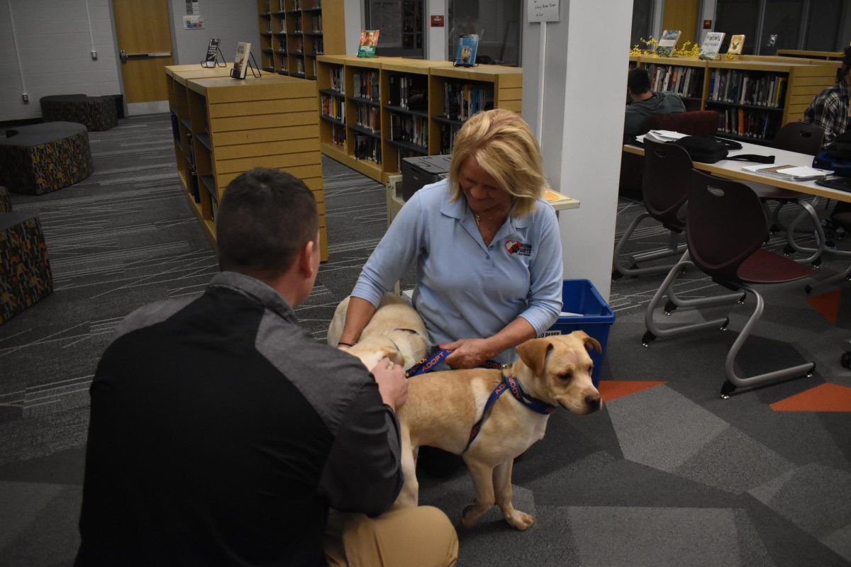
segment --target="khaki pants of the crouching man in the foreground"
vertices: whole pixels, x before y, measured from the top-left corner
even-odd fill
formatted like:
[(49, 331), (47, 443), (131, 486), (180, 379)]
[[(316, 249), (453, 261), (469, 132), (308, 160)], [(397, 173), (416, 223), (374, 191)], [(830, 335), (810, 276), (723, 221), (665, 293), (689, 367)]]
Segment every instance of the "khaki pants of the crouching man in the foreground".
[(394, 508), (377, 518), (332, 510), (325, 557), (331, 567), (451, 567), (458, 534), (431, 506)]

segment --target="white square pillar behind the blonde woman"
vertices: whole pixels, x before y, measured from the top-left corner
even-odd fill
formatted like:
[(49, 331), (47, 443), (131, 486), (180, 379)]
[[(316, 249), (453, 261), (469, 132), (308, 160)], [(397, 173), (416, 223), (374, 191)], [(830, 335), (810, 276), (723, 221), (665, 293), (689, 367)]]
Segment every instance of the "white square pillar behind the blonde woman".
[(563, 0), (547, 24), (523, 28), (523, 118), (537, 127), (538, 77), (545, 72), (544, 168), (554, 188), (579, 199), (563, 211), (564, 278), (588, 279), (608, 300), (623, 146), (632, 0)]

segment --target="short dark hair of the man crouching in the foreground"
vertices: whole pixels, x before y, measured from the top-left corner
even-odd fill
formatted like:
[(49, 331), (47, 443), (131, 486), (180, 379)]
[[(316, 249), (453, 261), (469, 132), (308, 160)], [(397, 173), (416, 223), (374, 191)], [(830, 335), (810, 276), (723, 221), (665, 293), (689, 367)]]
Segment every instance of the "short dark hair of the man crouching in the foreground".
[(311, 190), (289, 173), (266, 167), (228, 184), (215, 220), (219, 268), (261, 280), (286, 272), (319, 230)]

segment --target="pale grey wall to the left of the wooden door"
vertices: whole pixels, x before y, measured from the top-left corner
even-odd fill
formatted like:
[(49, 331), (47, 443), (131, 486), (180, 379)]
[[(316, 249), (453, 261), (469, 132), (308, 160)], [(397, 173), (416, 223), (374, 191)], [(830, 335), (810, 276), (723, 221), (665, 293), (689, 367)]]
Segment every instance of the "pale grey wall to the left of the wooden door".
[[(109, 0), (0, 0), (0, 122), (42, 116), (38, 99), (49, 94), (119, 94)], [(14, 57), (12, 22), (24, 75)], [(21, 94), (29, 95), (24, 104)]]

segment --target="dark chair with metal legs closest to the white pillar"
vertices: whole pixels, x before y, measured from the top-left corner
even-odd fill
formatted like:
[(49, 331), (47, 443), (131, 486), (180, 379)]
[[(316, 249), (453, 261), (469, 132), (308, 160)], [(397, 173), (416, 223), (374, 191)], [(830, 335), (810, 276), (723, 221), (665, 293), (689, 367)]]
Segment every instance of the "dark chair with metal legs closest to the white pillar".
[[(664, 274), (673, 264), (639, 268), (638, 263), (680, 256), (685, 252), (685, 244), (680, 242), (679, 235), (685, 230), (688, 173), (691, 169), (691, 157), (683, 148), (645, 139), (642, 179), (645, 211), (632, 219), (614, 247), (613, 280), (617, 280), (622, 275)], [(630, 241), (638, 225), (646, 218), (653, 218), (670, 231), (668, 247), (625, 257), (624, 248), (627, 242)]]

